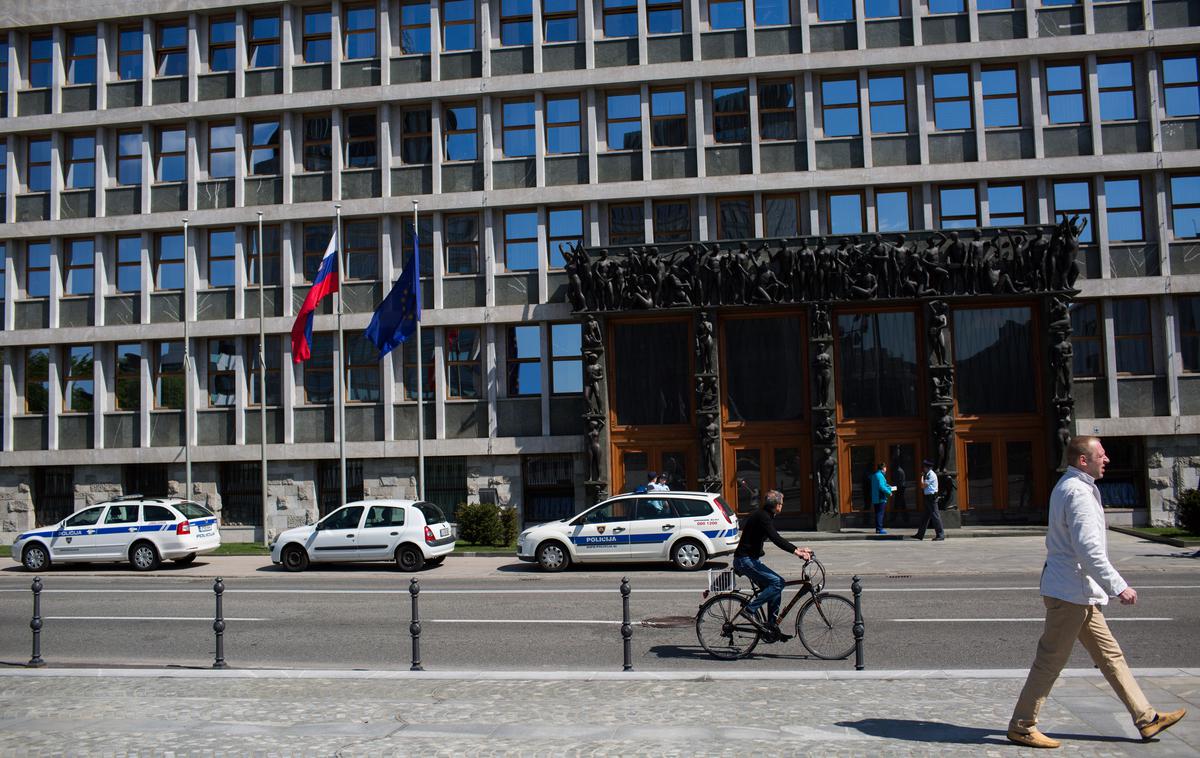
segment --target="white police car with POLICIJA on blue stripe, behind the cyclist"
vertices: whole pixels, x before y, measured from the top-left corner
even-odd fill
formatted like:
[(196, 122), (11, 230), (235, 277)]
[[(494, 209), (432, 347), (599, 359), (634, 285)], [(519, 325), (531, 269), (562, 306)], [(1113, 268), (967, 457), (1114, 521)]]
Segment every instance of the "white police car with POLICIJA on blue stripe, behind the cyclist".
[(546, 571), (572, 563), (672, 561), (696, 571), (727, 555), (740, 535), (733, 510), (710, 492), (649, 492), (610, 498), (517, 537), (517, 558)]

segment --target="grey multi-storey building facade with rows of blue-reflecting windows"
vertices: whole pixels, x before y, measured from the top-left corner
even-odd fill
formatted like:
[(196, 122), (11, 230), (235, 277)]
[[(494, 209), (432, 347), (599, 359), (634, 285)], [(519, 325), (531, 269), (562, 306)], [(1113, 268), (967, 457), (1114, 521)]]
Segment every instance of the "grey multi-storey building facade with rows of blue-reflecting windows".
[[(535, 522), (584, 503), (586, 481), (619, 491), (647, 469), (686, 486), (712, 474), (691, 432), (690, 452), (672, 447), (668, 423), (620, 438), (632, 432), (612, 423), (616, 407), (649, 409), (612, 381), (605, 470), (589, 470), (595, 367), (569, 300), (570, 246), (973, 239), (1068, 217), (1086, 224), (1068, 423), (1105, 439), (1108, 505), (1174, 522), (1200, 457), (1198, 47), (1195, 0), (0, 4), (0, 536), (120, 492), (181, 493), (185, 434), (188, 494), (221, 511), (227, 539), (311, 521), (338, 499), (337, 387), (349, 495), (414, 494), (415, 347), (380, 362), (361, 338), (414, 236), (427, 498), (511, 504)], [(287, 338), (335, 203), (343, 381), (328, 307), (312, 360), (293, 363)], [(265, 398), (253, 381), (260, 284)], [(964, 293), (944, 314), (952, 330), (1024, 324), (1040, 351), (1028, 363), (1040, 399), (1016, 427), (976, 422), (961, 384), (949, 396), (946, 455), (968, 522), (1036, 521), (1052, 482), (1058, 419), (1038, 367), (1061, 323), (1010, 294), (972, 305)], [(821, 343), (809, 306), (794, 305), (715, 309), (714, 360), (726, 366), (733, 344), (808, 375)], [(992, 306), (1028, 319), (974, 313)], [(924, 356), (923, 308), (838, 305), (835, 384), (865, 375), (850, 335), (876, 338), (904, 313)], [(691, 372), (689, 392), (702, 389), (703, 372), (662, 360), (692, 344), (697, 313), (660, 315), (636, 314), (660, 324), (637, 335), (606, 318), (605, 344), (619, 353), (624, 339), (648, 369)], [(991, 355), (949, 344), (960, 377), (979, 372), (956, 361)], [(797, 525), (815, 513), (821, 459), (809, 456), (824, 447), (844, 477), (841, 523), (863, 512), (850, 474), (863, 462), (899, 451), (912, 479), (937, 452), (924, 368), (922, 386), (888, 385), (876, 402), (913, 407), (912, 428), (899, 433), (890, 410), (856, 421), (844, 403), (868, 398), (839, 389), (821, 447), (809, 383), (779, 398), (805, 413), (739, 439), (722, 371), (720, 486), (731, 500), (742, 480), (790, 488)], [(781, 464), (790, 455), (803, 462)]]

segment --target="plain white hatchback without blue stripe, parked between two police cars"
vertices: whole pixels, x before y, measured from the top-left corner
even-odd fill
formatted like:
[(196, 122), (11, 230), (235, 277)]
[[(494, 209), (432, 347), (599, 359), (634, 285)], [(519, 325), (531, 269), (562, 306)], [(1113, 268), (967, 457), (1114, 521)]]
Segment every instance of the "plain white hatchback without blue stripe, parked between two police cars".
[(359, 500), (282, 533), (271, 545), (271, 563), (304, 571), (310, 563), (395, 560), (401, 571), (419, 571), (445, 560), (454, 542), (454, 529), (432, 503)]

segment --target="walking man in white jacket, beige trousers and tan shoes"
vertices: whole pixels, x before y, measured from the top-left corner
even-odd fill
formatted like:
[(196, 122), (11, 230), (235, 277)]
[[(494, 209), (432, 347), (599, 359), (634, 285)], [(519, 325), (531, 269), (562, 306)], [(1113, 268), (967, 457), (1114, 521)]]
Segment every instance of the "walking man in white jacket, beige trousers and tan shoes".
[(1027, 747), (1058, 747), (1058, 740), (1037, 729), (1038, 711), (1079, 639), (1133, 716), (1141, 738), (1148, 740), (1187, 711), (1158, 712), (1151, 708), (1104, 620), (1109, 597), (1126, 606), (1138, 602), (1138, 592), (1109, 563), (1104, 509), (1096, 486), (1109, 462), (1104, 446), (1096, 437), (1073, 438), (1067, 445), (1067, 473), (1050, 494), (1046, 563), (1042, 570), (1045, 626), (1008, 722), (1008, 739)]

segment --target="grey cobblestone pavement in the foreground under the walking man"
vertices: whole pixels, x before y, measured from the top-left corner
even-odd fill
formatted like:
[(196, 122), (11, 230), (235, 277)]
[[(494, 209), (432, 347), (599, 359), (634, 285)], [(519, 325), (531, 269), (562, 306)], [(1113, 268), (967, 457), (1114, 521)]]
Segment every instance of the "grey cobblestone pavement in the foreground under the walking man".
[[(1104, 680), (1069, 670), (1043, 710), (1062, 753), (1200, 753), (1200, 669), (1136, 674), (1188, 718), (1141, 744)], [(8, 669), (0, 754), (1014, 756), (1022, 679)]]

